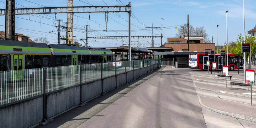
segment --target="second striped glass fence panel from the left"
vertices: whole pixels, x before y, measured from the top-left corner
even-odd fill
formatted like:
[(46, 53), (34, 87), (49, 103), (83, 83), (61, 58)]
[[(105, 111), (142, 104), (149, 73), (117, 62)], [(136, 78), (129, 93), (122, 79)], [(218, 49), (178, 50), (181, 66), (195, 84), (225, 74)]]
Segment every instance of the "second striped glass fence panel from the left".
[(46, 93), (79, 84), (80, 65), (46, 68)]

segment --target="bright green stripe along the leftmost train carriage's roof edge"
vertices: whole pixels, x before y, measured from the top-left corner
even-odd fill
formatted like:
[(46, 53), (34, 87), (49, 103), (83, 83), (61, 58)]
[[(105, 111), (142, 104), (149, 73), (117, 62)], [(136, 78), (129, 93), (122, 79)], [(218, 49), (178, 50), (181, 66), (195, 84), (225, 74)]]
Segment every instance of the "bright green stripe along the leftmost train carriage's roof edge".
[(13, 50), (13, 48), (22, 48), (23, 51), (51, 51), (49, 48), (0, 45), (1, 50)]

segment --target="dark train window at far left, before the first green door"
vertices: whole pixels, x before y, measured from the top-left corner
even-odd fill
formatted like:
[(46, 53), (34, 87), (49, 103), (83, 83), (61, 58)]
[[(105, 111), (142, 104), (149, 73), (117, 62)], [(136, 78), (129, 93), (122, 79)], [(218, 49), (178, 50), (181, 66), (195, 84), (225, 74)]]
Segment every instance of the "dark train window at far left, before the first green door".
[(11, 56), (0, 55), (0, 71), (8, 71), (11, 67)]

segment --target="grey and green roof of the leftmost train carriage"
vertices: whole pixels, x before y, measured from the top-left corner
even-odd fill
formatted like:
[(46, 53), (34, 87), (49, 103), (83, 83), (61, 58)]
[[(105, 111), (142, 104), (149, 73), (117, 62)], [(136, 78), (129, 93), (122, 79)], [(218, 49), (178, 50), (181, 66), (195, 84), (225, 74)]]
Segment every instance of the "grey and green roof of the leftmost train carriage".
[(0, 54), (51, 55), (51, 50), (44, 43), (0, 40)]

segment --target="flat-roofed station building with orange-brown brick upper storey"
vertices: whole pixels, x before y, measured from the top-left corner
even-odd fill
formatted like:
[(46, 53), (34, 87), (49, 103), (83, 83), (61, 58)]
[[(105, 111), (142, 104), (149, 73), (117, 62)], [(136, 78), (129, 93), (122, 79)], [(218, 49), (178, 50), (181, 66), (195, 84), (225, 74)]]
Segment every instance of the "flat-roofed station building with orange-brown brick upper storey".
[(205, 43), (203, 36), (189, 36), (189, 45), (187, 42), (187, 37), (167, 38), (167, 44), (147, 49), (154, 52), (154, 57), (171, 61), (170, 65), (174, 65), (174, 61), (178, 61), (179, 67), (188, 67), (189, 53), (203, 53), (215, 50), (215, 44)]

